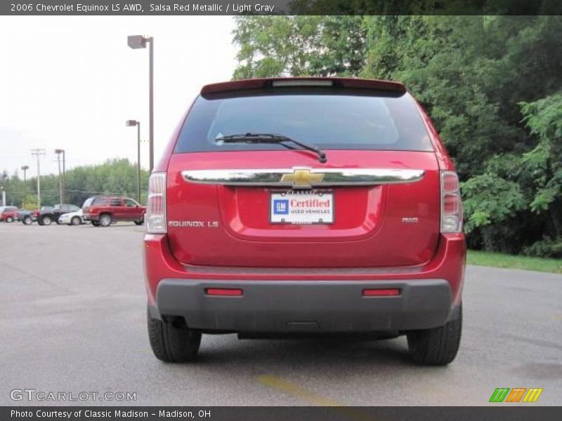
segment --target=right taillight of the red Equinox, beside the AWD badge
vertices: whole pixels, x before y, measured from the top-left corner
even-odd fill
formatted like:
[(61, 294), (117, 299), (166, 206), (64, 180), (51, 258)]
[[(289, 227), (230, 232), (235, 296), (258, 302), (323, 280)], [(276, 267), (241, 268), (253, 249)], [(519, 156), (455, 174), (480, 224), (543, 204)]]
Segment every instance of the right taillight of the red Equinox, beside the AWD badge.
[(441, 232), (462, 232), (462, 202), (455, 171), (441, 171)]

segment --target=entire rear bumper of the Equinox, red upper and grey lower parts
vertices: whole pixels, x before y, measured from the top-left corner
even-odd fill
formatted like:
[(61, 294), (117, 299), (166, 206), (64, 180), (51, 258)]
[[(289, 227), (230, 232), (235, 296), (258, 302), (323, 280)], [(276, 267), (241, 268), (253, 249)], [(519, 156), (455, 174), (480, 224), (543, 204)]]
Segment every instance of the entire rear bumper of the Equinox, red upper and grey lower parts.
[[(373, 269), (189, 267), (164, 234), (145, 234), (143, 257), (152, 316), (183, 316), (191, 328), (233, 332), (397, 331), (443, 325), (461, 302), (463, 234), (440, 238), (419, 267)], [(240, 288), (242, 297), (209, 296), (205, 288)], [(363, 297), (365, 288), (400, 295)]]

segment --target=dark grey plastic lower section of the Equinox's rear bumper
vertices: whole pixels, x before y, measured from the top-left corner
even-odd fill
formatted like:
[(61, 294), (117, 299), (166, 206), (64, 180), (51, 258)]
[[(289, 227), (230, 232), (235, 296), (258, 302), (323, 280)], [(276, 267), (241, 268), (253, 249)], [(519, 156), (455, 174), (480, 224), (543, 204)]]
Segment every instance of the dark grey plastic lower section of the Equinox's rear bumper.
[[(240, 288), (241, 296), (207, 295)], [(400, 295), (362, 295), (398, 288)], [(163, 279), (152, 316), (183, 316), (190, 328), (237, 333), (384, 332), (443, 325), (454, 312), (449, 283), (423, 281), (201, 281)]]

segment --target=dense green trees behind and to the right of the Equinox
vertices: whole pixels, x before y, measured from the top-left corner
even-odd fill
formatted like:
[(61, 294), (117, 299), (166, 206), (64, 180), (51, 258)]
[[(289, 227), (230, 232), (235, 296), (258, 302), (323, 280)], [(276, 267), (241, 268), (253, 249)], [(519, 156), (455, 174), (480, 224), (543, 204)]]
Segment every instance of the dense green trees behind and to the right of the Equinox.
[[(476, 4), (475, 2), (473, 4)], [(462, 180), (469, 244), (557, 255), (562, 241), (562, 16), (416, 15), (375, 2), (294, 1), (355, 16), (244, 16), (234, 77), (362, 76), (403, 81), (436, 123)], [(508, 1), (484, 1), (511, 10)], [(323, 7), (322, 6), (322, 7)], [(393, 6), (399, 6), (394, 4)], [(461, 4), (451, 2), (451, 8)], [(451, 9), (452, 10), (452, 9)]]

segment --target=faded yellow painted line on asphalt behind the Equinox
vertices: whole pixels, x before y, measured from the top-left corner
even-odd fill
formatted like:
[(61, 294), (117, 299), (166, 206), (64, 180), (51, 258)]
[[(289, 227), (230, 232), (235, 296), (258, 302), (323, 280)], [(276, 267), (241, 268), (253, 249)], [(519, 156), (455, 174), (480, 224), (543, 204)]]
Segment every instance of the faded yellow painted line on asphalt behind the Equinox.
[(307, 401), (315, 406), (332, 406), (334, 407), (334, 411), (340, 413), (341, 415), (345, 415), (353, 420), (358, 421), (375, 421), (372, 415), (363, 412), (362, 410), (358, 410), (355, 408), (346, 408), (343, 403), (339, 403), (336, 401), (332, 401), (332, 399), (327, 399), (323, 396), (310, 392), (306, 389), (303, 389), (299, 385), (295, 385), (293, 382), (289, 382), (287, 380), (283, 380), (280, 377), (275, 377), (274, 375), (261, 375), (256, 377), (256, 380), (264, 386), (272, 387), (273, 389), (280, 390), (282, 392), (287, 392), (296, 396), (297, 398), (303, 399), (303, 401)]

